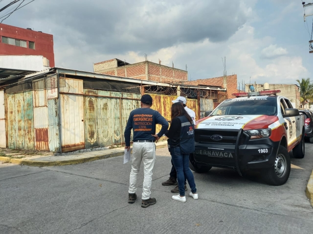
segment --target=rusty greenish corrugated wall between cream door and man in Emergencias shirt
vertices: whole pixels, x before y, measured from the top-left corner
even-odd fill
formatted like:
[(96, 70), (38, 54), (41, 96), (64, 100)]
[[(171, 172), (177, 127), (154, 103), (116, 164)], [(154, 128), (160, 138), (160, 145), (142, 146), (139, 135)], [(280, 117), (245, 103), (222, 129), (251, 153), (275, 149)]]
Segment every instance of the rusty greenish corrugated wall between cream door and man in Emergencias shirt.
[(86, 148), (124, 143), (128, 117), (140, 107), (139, 99), (140, 94), (84, 89)]

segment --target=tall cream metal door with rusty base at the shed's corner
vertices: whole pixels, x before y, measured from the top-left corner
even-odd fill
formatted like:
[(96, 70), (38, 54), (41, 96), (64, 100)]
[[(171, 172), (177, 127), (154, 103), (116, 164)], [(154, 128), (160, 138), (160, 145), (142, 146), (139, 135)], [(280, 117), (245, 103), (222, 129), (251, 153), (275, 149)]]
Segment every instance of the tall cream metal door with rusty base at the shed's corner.
[[(83, 80), (60, 78), (62, 152), (85, 148)], [(70, 93), (70, 94), (66, 94)]]

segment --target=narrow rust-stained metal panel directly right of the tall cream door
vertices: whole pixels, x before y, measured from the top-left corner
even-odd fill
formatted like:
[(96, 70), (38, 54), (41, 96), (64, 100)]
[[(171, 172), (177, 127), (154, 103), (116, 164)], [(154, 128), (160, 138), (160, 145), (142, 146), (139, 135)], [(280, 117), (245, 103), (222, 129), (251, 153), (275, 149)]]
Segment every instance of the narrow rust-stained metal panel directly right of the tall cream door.
[[(97, 90), (84, 90), (84, 94), (98, 95)], [(85, 147), (99, 147), (98, 128), (97, 128), (97, 98), (85, 96)]]

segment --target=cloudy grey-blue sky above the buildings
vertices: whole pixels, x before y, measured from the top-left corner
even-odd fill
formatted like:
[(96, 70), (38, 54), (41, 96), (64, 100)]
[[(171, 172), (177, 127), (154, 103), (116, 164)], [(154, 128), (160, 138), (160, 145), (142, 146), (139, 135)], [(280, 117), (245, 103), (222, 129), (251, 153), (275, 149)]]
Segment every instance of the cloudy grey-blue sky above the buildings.
[(195, 80), (223, 76), (225, 56), (238, 81), (296, 83), (313, 78), (313, 17), (304, 23), (303, 13), (301, 0), (34, 0), (3, 23), (53, 34), (58, 67), (93, 71), (95, 62), (147, 54), (187, 64)]

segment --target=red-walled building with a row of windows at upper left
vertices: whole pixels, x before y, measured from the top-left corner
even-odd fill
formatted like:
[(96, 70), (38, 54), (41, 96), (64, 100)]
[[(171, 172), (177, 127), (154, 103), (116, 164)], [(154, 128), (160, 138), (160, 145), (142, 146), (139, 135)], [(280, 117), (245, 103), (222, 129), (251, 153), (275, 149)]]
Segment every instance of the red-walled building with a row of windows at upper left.
[(0, 55), (42, 55), (54, 67), (53, 35), (1, 23)]

